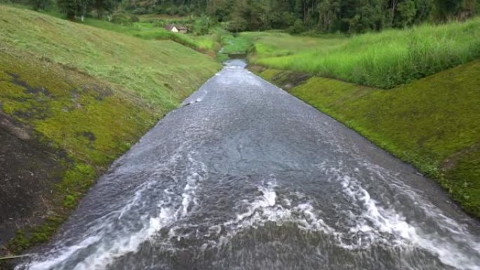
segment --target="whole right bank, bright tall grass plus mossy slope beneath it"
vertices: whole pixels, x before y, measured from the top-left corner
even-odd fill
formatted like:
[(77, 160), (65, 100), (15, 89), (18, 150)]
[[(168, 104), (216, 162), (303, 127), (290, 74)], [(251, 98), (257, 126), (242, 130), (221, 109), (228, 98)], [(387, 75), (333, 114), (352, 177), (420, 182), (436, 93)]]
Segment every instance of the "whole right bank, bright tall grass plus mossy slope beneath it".
[[(299, 53), (292, 37), (285, 36), (284, 43), (291, 48), (284, 49), (274, 46), (281, 41), (266, 35), (253, 39), (258, 54), (252, 59), (294, 70), (257, 69), (279, 86), (300, 75), (303, 81), (296, 82), (291, 94), (413, 164), (437, 180), (467, 212), (480, 217), (480, 61), (469, 62), (480, 57), (479, 24), (475, 19), (365, 34), (313, 50), (303, 50), (305, 43), (299, 42)], [(317, 42), (329, 43), (331, 38)], [(272, 57), (282, 50), (291, 55)], [(463, 62), (467, 63), (460, 65)], [(447, 69), (454, 65), (460, 66)], [(384, 90), (305, 77), (298, 71), (363, 85), (411, 82)], [(439, 73), (413, 81), (434, 72)]]

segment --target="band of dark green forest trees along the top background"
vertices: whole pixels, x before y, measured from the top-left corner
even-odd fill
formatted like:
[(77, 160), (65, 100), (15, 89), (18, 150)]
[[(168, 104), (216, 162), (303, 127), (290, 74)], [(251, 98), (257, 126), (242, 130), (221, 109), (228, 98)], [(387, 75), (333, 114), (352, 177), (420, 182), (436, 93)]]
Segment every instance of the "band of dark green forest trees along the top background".
[[(465, 20), (478, 14), (480, 0), (11, 0), (34, 8), (57, 5), (74, 20), (94, 12), (137, 15), (203, 15), (201, 27), (221, 22), (232, 31), (289, 29), (292, 33), (368, 32), (422, 22)], [(111, 19), (111, 18), (109, 18)]]

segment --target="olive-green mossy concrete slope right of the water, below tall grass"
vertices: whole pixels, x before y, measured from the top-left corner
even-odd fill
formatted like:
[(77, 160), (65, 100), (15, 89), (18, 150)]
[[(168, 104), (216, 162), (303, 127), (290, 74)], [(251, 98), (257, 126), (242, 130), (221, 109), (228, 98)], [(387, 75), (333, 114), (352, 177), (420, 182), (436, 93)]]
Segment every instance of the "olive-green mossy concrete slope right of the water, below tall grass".
[[(480, 61), (392, 90), (251, 67), (434, 178), (480, 217)], [(298, 80), (303, 76), (303, 80)]]

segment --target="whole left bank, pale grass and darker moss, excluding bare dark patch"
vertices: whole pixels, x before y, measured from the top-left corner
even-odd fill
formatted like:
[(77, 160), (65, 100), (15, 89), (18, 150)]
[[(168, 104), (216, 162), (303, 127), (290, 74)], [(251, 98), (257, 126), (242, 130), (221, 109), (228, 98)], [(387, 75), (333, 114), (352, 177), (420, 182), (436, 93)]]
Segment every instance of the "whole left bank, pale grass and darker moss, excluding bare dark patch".
[(0, 5), (1, 112), (65, 153), (46, 209), (28, 217), (40, 222), (21, 224), (6, 250), (46, 241), (109, 164), (219, 68), (173, 41)]

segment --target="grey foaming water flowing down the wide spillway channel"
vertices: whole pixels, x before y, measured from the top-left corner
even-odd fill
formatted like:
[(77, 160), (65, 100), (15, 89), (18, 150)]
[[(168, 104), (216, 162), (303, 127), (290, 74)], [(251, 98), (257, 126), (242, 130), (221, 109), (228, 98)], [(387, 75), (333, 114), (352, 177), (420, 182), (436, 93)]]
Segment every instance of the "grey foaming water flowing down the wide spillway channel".
[(149, 131), (18, 269), (480, 269), (479, 224), (436, 184), (243, 66)]

